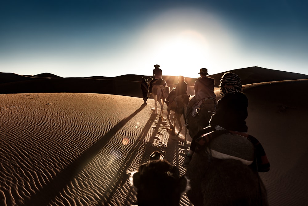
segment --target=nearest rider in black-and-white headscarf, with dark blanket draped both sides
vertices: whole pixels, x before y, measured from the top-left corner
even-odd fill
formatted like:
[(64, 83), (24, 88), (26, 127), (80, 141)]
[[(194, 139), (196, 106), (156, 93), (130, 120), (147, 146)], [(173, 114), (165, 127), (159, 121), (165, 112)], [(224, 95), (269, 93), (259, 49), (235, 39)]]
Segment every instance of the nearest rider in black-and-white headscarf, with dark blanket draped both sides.
[[(257, 158), (257, 171), (269, 171), (270, 163), (267, 160), (264, 149), (260, 142), (247, 135), (248, 127), (245, 119), (248, 116), (248, 99), (244, 93), (241, 92), (242, 85), (241, 79), (237, 74), (226, 72), (220, 81), (220, 94), (222, 98), (217, 102), (217, 109), (215, 114), (212, 115), (209, 126), (200, 130), (194, 137), (185, 156), (183, 167), (187, 167), (192, 159), (193, 153), (196, 151), (197, 142), (202, 137), (211, 139), (223, 134), (225, 132), (237, 133), (241, 136), (247, 136), (255, 147)], [(212, 132), (212, 133), (211, 133)]]

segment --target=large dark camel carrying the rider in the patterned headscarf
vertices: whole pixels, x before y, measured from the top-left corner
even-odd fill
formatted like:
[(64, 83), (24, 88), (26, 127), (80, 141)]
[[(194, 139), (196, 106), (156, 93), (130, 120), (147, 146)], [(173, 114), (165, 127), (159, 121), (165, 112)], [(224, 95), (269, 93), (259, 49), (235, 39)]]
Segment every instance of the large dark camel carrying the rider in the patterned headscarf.
[[(258, 172), (252, 169), (254, 163), (247, 166), (250, 160), (254, 160), (252, 143), (245, 137), (233, 136), (234, 134), (226, 133), (224, 137), (218, 138), (218, 142), (215, 141), (216, 137), (209, 142), (208, 147), (193, 154), (186, 170), (191, 187), (186, 194), (193, 205), (268, 205), (265, 186)], [(237, 144), (239, 148), (230, 144), (231, 141), (226, 143), (230, 137), (241, 139)], [(237, 142), (236, 139), (232, 141)], [(214, 152), (213, 147), (218, 150), (217, 148), (224, 144), (227, 150), (248, 157), (246, 159), (249, 160), (230, 158), (228, 155)], [(238, 150), (234, 151), (236, 149)]]

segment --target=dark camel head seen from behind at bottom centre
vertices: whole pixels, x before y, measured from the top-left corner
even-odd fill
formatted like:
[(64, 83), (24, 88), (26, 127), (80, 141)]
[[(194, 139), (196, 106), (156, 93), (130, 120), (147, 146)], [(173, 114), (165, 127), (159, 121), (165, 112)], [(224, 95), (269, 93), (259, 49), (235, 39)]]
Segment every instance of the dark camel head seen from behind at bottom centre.
[(180, 197), (187, 188), (186, 177), (179, 169), (162, 159), (155, 151), (147, 163), (139, 166), (132, 174), (131, 182), (137, 192), (139, 206), (179, 206)]

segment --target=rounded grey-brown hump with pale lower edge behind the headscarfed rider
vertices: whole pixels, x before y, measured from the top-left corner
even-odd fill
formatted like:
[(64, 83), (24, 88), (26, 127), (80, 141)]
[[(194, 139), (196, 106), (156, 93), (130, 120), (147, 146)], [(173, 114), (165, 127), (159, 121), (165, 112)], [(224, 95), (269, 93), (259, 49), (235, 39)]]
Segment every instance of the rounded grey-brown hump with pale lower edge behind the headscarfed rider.
[(215, 137), (209, 143), (208, 150), (214, 158), (236, 159), (245, 165), (251, 165), (254, 160), (254, 146), (246, 137), (225, 133)]

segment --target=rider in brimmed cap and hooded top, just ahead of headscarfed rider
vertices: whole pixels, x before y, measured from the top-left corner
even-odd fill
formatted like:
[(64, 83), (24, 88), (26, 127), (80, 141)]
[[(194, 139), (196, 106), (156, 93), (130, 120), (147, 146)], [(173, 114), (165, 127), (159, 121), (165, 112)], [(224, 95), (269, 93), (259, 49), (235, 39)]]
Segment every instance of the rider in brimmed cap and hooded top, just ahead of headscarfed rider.
[(194, 84), (195, 96), (188, 102), (184, 126), (188, 126), (188, 119), (191, 116), (192, 108), (195, 103), (206, 98), (216, 99), (214, 93), (214, 79), (206, 76), (208, 75), (208, 69), (202, 68), (198, 74), (200, 74), (201, 78), (197, 78)]

